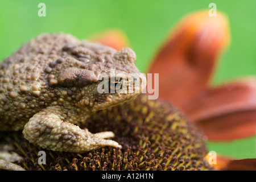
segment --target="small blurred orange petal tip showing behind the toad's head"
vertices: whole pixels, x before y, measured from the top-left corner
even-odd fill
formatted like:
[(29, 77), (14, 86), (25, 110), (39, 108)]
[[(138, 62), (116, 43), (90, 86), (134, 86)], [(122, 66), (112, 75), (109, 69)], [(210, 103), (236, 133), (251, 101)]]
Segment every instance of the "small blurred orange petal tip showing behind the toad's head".
[(121, 30), (108, 30), (101, 34), (92, 35), (89, 38), (93, 42), (100, 42), (119, 51), (123, 47), (129, 47), (127, 36)]

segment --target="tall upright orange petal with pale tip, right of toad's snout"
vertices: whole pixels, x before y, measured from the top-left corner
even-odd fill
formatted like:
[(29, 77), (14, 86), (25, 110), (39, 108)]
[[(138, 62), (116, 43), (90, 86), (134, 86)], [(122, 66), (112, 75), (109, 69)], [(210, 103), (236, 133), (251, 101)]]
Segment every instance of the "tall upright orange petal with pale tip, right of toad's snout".
[[(159, 97), (180, 106), (207, 84), (229, 43), (228, 20), (208, 11), (189, 14), (160, 48), (149, 73), (159, 73)], [(153, 83), (154, 84), (154, 83)]]

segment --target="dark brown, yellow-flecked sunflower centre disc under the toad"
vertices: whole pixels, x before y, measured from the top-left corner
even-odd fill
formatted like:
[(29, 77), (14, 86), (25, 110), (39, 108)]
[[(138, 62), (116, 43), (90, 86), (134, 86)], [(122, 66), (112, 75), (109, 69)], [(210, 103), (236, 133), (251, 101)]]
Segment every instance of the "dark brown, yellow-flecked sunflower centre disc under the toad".
[[(22, 134), (9, 133), (6, 143), (22, 156), (19, 166), (26, 170), (209, 170), (207, 147), (203, 135), (187, 117), (163, 101), (148, 100), (146, 94), (136, 99), (97, 111), (86, 120), (92, 133), (111, 130), (122, 149), (103, 147), (76, 154), (53, 152), (34, 146)], [(46, 152), (46, 163), (40, 164), (39, 151)]]

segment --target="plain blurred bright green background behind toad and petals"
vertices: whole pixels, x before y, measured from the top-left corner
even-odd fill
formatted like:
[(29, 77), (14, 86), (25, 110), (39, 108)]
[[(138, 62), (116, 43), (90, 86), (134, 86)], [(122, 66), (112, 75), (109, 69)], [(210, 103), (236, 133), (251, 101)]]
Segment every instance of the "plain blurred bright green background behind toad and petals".
[[(46, 4), (46, 17), (38, 4)], [(43, 32), (65, 32), (79, 39), (109, 28), (124, 31), (137, 53), (137, 67), (146, 71), (158, 47), (185, 14), (209, 9), (229, 16), (232, 42), (221, 57), (212, 84), (256, 75), (256, 1), (36, 1), (0, 0), (0, 60)], [(209, 150), (236, 158), (256, 158), (256, 137), (233, 142), (208, 142)]]

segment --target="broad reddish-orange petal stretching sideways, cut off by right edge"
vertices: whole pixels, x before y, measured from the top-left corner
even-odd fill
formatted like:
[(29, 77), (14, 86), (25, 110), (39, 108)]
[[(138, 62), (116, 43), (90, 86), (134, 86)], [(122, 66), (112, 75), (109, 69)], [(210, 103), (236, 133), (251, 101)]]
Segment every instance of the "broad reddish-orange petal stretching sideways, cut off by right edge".
[(208, 89), (183, 106), (211, 140), (255, 135), (256, 78), (244, 78)]

